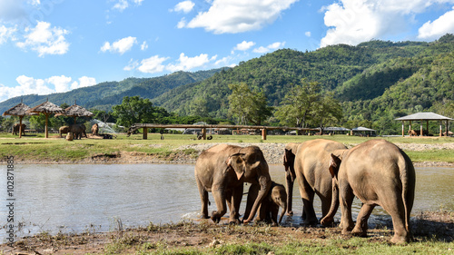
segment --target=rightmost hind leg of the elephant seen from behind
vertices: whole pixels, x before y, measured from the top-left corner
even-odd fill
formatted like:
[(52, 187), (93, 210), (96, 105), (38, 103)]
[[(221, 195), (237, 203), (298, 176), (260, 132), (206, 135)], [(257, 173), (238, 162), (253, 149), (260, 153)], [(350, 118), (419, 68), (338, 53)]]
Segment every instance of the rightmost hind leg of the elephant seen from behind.
[[(391, 194), (392, 193), (392, 194)], [(405, 221), (405, 207), (403, 200), (398, 192), (388, 192), (385, 199), (380, 198), (381, 206), (390, 213), (394, 236), (390, 240), (392, 243), (403, 243), (410, 240), (410, 233), (407, 230)]]

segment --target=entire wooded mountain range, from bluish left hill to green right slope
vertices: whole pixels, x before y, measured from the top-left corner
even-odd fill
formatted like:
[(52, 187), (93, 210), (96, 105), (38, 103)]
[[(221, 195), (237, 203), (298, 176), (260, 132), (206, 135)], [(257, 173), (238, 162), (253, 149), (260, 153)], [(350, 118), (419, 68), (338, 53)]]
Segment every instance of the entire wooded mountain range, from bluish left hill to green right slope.
[[(313, 52), (281, 49), (242, 62), (233, 68), (196, 73), (177, 72), (156, 78), (128, 78), (99, 83), (68, 93), (23, 96), (35, 106), (49, 101), (111, 111), (124, 96), (151, 99), (169, 113), (180, 116), (231, 119), (229, 84), (246, 83), (262, 91), (269, 106), (281, 105), (301, 79), (317, 82), (322, 93), (341, 103), (341, 121), (326, 125), (366, 126), (380, 134), (400, 131), (395, 118), (416, 112), (435, 112), (454, 118), (454, 35), (425, 42), (373, 40), (357, 46), (331, 45)], [(19, 103), (0, 103), (0, 111)], [(273, 115), (264, 124), (277, 125)], [(439, 123), (432, 123), (437, 130)]]

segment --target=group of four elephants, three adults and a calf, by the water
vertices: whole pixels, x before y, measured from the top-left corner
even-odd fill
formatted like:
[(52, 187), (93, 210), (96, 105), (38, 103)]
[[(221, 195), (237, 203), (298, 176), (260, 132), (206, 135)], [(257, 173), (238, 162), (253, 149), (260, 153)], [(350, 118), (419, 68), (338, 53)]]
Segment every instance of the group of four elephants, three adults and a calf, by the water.
[[(303, 202), (304, 224), (318, 224), (314, 195), (321, 199), (321, 221), (332, 226), (341, 204), (342, 234), (367, 236), (368, 219), (375, 206), (387, 211), (394, 226), (393, 243), (410, 240), (410, 211), (415, 195), (416, 173), (409, 156), (385, 140), (370, 140), (348, 149), (341, 142), (316, 139), (288, 143), (283, 156), (286, 187), (271, 181), (268, 164), (257, 146), (215, 145), (201, 153), (195, 163), (195, 180), (202, 201), (202, 219), (219, 222), (230, 211), (231, 223), (255, 221), (281, 223), (291, 215), (293, 182)], [(240, 220), (243, 183), (252, 183)], [(217, 211), (208, 213), (208, 192)], [(354, 197), (362, 202), (356, 224), (351, 219)], [(278, 211), (282, 208), (278, 221)]]

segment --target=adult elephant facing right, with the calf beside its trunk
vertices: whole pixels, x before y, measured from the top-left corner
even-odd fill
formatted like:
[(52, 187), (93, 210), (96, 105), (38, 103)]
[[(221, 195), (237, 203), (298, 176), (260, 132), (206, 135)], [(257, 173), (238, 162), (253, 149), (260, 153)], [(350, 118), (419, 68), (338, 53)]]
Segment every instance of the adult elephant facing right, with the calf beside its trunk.
[(208, 216), (208, 192), (216, 203), (217, 211), (212, 211), (211, 219), (219, 222), (230, 209), (229, 221), (239, 223), (240, 204), (242, 201), (243, 182), (259, 185), (260, 191), (253, 202), (249, 218), (243, 223), (252, 221), (261, 202), (271, 189), (271, 176), (262, 151), (257, 146), (240, 147), (218, 144), (202, 152), (195, 162), (195, 181), (202, 201), (202, 219)]

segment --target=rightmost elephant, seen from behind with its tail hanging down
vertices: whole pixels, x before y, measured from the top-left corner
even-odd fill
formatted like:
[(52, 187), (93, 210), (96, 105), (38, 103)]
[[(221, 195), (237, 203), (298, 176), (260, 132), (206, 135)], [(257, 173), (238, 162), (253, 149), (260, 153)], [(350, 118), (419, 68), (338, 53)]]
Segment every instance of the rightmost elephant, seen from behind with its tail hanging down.
[[(332, 176), (331, 210), (321, 220), (332, 221), (333, 209), (341, 202), (342, 234), (367, 236), (368, 219), (380, 205), (394, 226), (393, 243), (410, 240), (410, 212), (415, 197), (416, 174), (409, 156), (385, 140), (370, 140), (344, 151), (331, 154), (326, 172)], [(351, 220), (354, 197), (362, 202), (356, 225)]]

